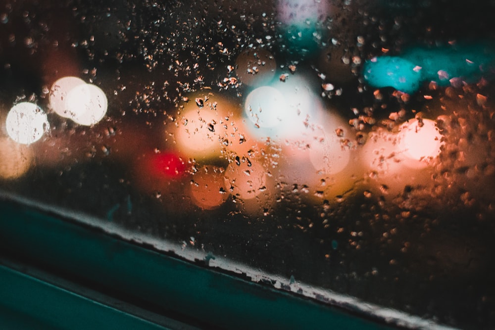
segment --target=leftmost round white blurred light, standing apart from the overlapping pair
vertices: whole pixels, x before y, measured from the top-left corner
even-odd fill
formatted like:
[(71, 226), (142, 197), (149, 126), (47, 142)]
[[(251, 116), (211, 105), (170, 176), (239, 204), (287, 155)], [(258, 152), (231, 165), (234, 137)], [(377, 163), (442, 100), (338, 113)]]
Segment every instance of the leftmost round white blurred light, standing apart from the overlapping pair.
[(21, 102), (8, 112), (5, 127), (12, 140), (30, 144), (41, 139), (48, 130), (49, 123), (47, 114), (38, 105)]

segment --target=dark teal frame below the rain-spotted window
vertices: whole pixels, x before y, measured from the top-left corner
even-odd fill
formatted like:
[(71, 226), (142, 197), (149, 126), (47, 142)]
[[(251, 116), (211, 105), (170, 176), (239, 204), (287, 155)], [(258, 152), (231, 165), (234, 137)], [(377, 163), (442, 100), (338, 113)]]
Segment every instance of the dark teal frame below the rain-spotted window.
[[(147, 306), (159, 318), (215, 329), (392, 329), (384, 319), (254, 283), (34, 206), (0, 199), (0, 256)], [(179, 329), (119, 311), (0, 261), (0, 316), (51, 329)], [(85, 311), (85, 312), (82, 312)], [(139, 314), (139, 313), (138, 313)], [(20, 317), (24, 315), (26, 317)], [(82, 320), (81, 318), (84, 319)], [(9, 322), (15, 322), (10, 317)], [(98, 319), (98, 323), (92, 323)], [(93, 320), (93, 321), (90, 321)], [(95, 326), (96, 325), (96, 326)]]

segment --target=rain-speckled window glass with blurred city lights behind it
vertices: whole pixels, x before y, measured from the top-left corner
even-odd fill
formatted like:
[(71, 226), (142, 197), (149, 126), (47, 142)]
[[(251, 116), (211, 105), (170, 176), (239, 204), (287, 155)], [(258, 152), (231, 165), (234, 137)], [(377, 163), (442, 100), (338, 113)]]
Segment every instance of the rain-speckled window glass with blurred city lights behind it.
[(493, 328), (494, 12), (4, 1), (0, 188), (316, 299)]

